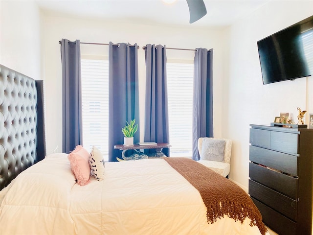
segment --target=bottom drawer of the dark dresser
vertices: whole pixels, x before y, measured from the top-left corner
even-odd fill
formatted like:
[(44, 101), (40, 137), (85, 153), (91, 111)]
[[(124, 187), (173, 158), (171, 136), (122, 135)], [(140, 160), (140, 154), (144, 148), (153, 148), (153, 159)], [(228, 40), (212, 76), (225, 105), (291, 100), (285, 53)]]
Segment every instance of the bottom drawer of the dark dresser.
[(263, 222), (274, 232), (280, 235), (296, 235), (296, 223), (286, 218), (282, 214), (270, 209), (268, 206), (252, 198), (262, 214)]

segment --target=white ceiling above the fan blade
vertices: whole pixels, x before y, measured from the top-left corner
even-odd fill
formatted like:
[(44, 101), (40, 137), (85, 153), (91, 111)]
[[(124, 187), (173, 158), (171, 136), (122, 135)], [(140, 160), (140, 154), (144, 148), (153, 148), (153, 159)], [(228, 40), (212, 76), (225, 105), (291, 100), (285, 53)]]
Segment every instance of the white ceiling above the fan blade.
[(207, 14), (189, 24), (186, 0), (176, 0), (171, 4), (163, 0), (36, 0), (45, 13), (55, 16), (199, 27), (230, 25), (268, 1), (204, 0)]

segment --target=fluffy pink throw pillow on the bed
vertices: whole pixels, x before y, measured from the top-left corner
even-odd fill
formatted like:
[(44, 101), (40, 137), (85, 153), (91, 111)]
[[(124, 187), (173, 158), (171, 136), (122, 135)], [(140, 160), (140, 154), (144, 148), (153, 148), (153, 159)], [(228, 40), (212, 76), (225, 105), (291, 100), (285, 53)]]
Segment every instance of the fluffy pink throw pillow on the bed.
[(68, 154), (70, 168), (75, 175), (77, 183), (80, 186), (89, 184), (90, 166), (89, 166), (89, 152), (81, 145)]

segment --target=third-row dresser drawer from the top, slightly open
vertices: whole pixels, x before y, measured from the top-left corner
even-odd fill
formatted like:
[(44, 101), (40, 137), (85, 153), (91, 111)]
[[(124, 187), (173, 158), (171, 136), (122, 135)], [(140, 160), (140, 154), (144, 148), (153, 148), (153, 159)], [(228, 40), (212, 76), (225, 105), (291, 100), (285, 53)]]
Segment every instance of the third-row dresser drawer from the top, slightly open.
[(298, 198), (298, 179), (296, 178), (253, 163), (249, 163), (249, 177), (251, 180), (291, 197), (293, 200)]

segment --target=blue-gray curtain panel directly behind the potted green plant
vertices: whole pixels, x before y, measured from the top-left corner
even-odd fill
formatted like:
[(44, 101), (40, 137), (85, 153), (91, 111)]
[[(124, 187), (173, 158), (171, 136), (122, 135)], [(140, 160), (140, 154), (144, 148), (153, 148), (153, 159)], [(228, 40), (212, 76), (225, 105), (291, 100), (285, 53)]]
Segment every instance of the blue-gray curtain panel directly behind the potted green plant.
[(138, 47), (109, 43), (109, 162), (116, 162), (121, 150), (115, 144), (123, 144), (122, 127), (126, 121), (136, 119), (138, 130), (134, 142), (139, 142), (139, 89)]

